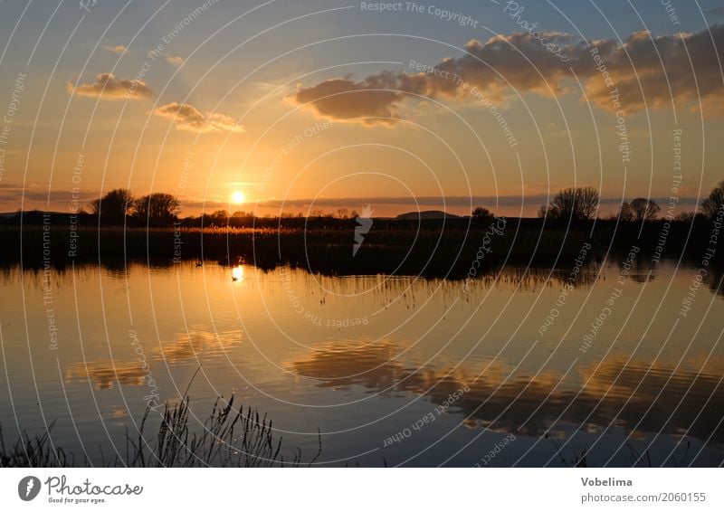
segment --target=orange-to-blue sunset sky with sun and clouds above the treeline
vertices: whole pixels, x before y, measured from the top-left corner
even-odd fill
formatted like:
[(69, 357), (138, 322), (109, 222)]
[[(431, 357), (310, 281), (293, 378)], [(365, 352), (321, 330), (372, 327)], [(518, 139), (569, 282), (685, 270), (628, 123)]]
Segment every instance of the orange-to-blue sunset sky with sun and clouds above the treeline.
[[(384, 7), (384, 10), (381, 8)], [(724, 179), (724, 2), (0, 0), (0, 213), (691, 211)]]

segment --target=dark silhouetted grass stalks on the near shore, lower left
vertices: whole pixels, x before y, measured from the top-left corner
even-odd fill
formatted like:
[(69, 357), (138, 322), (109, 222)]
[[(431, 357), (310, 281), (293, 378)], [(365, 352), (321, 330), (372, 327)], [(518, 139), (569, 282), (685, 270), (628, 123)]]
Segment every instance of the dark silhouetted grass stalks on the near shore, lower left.
[[(291, 450), (284, 460), (282, 438), (277, 436), (271, 420), (251, 407), (233, 407), (233, 395), (225, 401), (217, 398), (201, 431), (189, 428), (189, 398), (185, 394), (179, 403), (166, 403), (158, 430), (147, 435), (150, 409), (144, 413), (138, 431), (126, 431), (125, 453), (106, 460), (100, 449), (103, 467), (127, 468), (195, 468), (239, 467), (271, 468), (311, 466), (319, 450), (308, 462), (303, 462), (299, 448)], [(91, 466), (86, 457), (76, 464), (76, 458), (66, 450), (52, 445), (50, 431), (29, 436), (24, 432), (11, 447), (5, 446), (0, 430), (0, 467), (2, 468), (67, 468)]]

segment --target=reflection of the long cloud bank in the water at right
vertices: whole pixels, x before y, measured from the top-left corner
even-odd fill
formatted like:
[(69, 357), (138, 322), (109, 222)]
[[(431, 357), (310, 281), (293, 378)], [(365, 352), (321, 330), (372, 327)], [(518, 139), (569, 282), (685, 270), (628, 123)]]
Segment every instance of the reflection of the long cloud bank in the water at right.
[[(452, 393), (467, 385), (470, 391), (453, 407), (470, 417), (466, 425), (485, 425), (496, 431), (531, 436), (550, 431), (551, 435), (562, 435), (566, 423), (582, 425), (586, 431), (621, 427), (634, 437), (643, 437), (645, 432), (681, 435), (689, 431), (701, 440), (711, 435), (713, 442), (724, 442), (724, 429), (718, 427), (724, 414), (724, 387), (717, 387), (724, 371), (720, 361), (710, 361), (704, 368), (692, 360), (689, 369), (674, 372), (670, 365), (650, 369), (641, 361), (626, 365), (624, 358), (611, 358), (597, 370), (595, 365), (583, 367), (577, 383), (562, 384), (558, 383), (563, 375), (557, 371), (513, 375), (510, 366), (496, 362), (473, 382), (487, 362), (480, 362), (474, 369), (458, 368), (447, 375), (445, 368), (406, 368), (391, 360), (399, 352), (400, 348), (391, 343), (330, 345), (287, 367), (319, 380), (320, 387), (358, 384), (376, 393), (386, 390), (424, 394), (434, 404), (445, 403)], [(697, 377), (699, 370), (701, 375)], [(588, 384), (574, 399), (576, 386), (586, 381)]]

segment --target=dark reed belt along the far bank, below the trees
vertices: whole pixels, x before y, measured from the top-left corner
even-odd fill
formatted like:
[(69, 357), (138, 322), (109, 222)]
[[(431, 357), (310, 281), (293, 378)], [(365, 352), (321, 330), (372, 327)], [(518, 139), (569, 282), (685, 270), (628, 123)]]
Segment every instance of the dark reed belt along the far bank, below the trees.
[[(456, 278), (467, 275), (476, 260), (481, 270), (503, 263), (567, 268), (574, 264), (586, 242), (593, 246), (591, 257), (599, 260), (636, 245), (647, 257), (658, 254), (662, 258), (683, 256), (697, 261), (710, 246), (714, 229), (713, 223), (704, 219), (643, 224), (610, 220), (505, 221), (501, 234), (491, 236), (487, 230), (497, 224), (489, 219), (423, 223), (376, 220), (353, 254), (356, 226), (348, 221), (202, 230), (96, 226), (71, 229), (55, 219), (48, 231), (43, 223), (25, 223), (22, 229), (0, 227), (0, 264), (61, 269), (73, 263), (122, 265), (140, 261), (166, 266), (180, 261), (243, 261), (264, 269), (291, 265), (338, 275), (395, 273)], [(717, 251), (716, 258), (723, 252)]]

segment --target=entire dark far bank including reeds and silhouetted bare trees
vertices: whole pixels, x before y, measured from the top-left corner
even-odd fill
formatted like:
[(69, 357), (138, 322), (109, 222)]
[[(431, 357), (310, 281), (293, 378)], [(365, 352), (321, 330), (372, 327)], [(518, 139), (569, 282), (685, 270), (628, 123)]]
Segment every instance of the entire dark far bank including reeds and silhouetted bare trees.
[(648, 261), (700, 261), (712, 247), (711, 260), (724, 253), (717, 250), (724, 182), (712, 190), (701, 213), (674, 215), (667, 208), (659, 217), (660, 205), (636, 198), (610, 218), (595, 218), (597, 192), (585, 187), (558, 193), (540, 218), (500, 219), (479, 207), (466, 217), (367, 219), (364, 233), (354, 212), (343, 210), (313, 217), (221, 212), (177, 219), (173, 196), (144, 196), (139, 205), (129, 194), (110, 194), (113, 212), (120, 215), (110, 220), (102, 201), (93, 207), (100, 215), (37, 212), (5, 219), (0, 264), (22, 262), (24, 268), (39, 269), (84, 262), (122, 267), (130, 261), (244, 261), (263, 269), (291, 265), (333, 275), (463, 278), (470, 276), (473, 261), (476, 275), (502, 264), (568, 268), (586, 243), (593, 248), (587, 262), (626, 253), (634, 245), (641, 250), (639, 259)]

